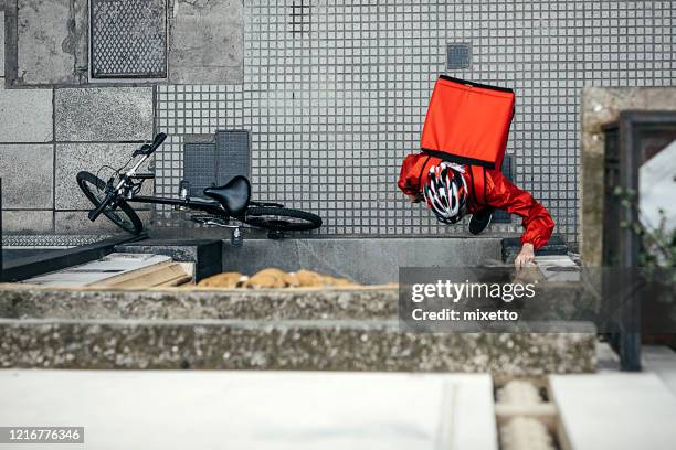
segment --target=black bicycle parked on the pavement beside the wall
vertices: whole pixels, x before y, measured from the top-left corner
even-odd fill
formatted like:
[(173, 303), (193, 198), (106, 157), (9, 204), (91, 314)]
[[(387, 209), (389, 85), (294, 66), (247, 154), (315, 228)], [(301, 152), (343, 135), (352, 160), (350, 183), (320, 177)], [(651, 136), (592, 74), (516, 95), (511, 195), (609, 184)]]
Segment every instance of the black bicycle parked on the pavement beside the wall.
[[(122, 229), (139, 235), (144, 231), (144, 224), (138, 214), (129, 203), (148, 203), (158, 205), (170, 205), (179, 211), (199, 211), (204, 214), (196, 214), (190, 218), (199, 224), (208, 226), (220, 226), (232, 228), (231, 243), (235, 246), (242, 245), (242, 225), (232, 225), (231, 218), (255, 228), (266, 229), (270, 238), (282, 238), (287, 232), (300, 232), (316, 229), (321, 226), (321, 217), (316, 214), (299, 210), (284, 207), (279, 203), (262, 203), (251, 200), (251, 183), (246, 176), (236, 175), (222, 186), (207, 188), (203, 194), (207, 199), (191, 197), (189, 184), (181, 181), (179, 197), (169, 199), (151, 195), (139, 195), (142, 183), (155, 178), (154, 173), (139, 173), (139, 168), (152, 156), (152, 153), (167, 139), (167, 135), (160, 132), (152, 143), (145, 143), (135, 150), (129, 161), (115, 172), (107, 182), (97, 174), (82, 171), (77, 173), (77, 184), (85, 196), (94, 204), (89, 211), (89, 221), (94, 222), (102, 214), (110, 219)], [(125, 168), (137, 157), (141, 157), (131, 169), (123, 172)]]

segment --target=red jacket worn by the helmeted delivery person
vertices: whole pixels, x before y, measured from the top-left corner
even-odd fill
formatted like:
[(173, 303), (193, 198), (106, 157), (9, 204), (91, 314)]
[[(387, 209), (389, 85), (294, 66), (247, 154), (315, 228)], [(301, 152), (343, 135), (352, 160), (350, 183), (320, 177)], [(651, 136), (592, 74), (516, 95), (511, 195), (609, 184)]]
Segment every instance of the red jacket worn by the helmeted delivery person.
[[(439, 163), (437, 158), (427, 158), (425, 154), (409, 156), (401, 167), (399, 176), (399, 189), (405, 194), (418, 195), (421, 186), (427, 178), (430, 165)], [(485, 203), (477, 203), (472, 192), (476, 188), (469, 171), (463, 174), (469, 189), (469, 213), (475, 213), (486, 206), (503, 210), (522, 217), (521, 224), (525, 228), (521, 234), (521, 244), (530, 243), (540, 248), (549, 240), (554, 223), (549, 212), (538, 203), (530, 193), (522, 191), (511, 184), (499, 170), (486, 170)]]

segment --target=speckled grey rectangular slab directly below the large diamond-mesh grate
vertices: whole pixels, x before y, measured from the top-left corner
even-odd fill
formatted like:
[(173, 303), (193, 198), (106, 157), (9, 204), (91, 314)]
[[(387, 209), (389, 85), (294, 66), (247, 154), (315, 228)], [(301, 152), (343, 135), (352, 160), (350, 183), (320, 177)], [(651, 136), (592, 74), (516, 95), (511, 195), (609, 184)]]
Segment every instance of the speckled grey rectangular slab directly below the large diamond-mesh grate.
[(55, 92), (56, 140), (152, 140), (151, 87), (66, 88)]

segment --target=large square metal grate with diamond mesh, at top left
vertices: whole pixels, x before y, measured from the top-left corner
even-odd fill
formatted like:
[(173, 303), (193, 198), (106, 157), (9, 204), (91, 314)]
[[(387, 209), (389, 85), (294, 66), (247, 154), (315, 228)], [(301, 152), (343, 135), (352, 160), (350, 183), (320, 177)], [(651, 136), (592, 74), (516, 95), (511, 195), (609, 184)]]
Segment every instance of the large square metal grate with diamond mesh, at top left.
[(91, 0), (92, 77), (167, 77), (167, 0)]

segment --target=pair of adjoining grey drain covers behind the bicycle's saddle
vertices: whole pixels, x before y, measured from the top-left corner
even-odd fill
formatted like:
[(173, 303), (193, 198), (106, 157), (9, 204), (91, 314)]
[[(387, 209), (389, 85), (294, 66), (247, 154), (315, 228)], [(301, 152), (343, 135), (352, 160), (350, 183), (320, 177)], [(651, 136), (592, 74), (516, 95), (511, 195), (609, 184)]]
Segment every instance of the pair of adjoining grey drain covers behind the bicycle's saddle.
[(249, 131), (216, 131), (215, 142), (187, 142), (183, 179), (190, 195), (202, 196), (204, 188), (223, 185), (235, 175), (250, 175)]

